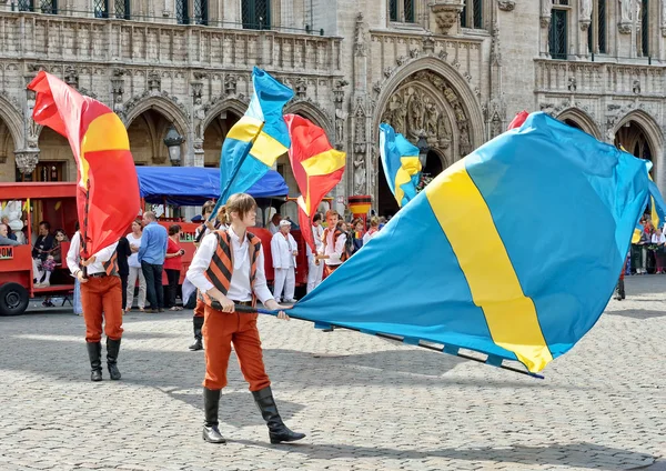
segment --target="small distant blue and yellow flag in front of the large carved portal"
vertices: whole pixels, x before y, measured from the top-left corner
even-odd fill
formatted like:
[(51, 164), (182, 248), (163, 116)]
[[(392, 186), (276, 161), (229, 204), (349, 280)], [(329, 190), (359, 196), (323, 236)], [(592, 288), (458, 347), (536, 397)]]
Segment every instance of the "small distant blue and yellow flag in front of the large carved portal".
[(389, 188), (398, 207), (404, 207), (416, 196), (421, 178), (418, 148), (396, 133), (390, 124), (380, 124), (380, 154)]

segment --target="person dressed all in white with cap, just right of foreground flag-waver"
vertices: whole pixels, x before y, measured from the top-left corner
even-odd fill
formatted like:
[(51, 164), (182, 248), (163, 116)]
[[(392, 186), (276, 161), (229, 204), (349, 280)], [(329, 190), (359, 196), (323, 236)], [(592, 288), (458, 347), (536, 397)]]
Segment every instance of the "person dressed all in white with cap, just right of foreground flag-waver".
[[(289, 232), (291, 222), (286, 219), (280, 221), (280, 230), (273, 234), (271, 240), (271, 254), (273, 255), (273, 269), (275, 281), (273, 295), (275, 301), (296, 302), (294, 291), (296, 289), (296, 255), (299, 245)], [(284, 297), (282, 292), (284, 291)]]

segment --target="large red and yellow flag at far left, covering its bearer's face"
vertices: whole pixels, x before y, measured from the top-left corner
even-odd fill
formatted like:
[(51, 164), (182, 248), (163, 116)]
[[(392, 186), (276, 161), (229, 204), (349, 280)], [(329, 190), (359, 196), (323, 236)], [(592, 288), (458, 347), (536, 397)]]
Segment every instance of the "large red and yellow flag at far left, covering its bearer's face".
[(105, 104), (44, 71), (30, 82), (32, 119), (65, 137), (78, 167), (77, 211), (89, 258), (115, 243), (139, 213), (139, 180), (128, 131)]

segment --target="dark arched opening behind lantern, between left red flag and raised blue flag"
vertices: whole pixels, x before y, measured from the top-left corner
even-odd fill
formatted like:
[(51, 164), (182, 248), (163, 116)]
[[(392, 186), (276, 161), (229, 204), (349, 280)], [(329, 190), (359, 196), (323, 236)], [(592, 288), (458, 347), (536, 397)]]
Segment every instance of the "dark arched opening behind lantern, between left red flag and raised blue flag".
[[(138, 166), (170, 166), (169, 150), (164, 137), (171, 121), (155, 109), (149, 109), (139, 114), (128, 127), (130, 149)], [(183, 134), (183, 130), (176, 129)], [(184, 144), (181, 144), (181, 156), (184, 156)], [(182, 159), (182, 157), (181, 157)]]

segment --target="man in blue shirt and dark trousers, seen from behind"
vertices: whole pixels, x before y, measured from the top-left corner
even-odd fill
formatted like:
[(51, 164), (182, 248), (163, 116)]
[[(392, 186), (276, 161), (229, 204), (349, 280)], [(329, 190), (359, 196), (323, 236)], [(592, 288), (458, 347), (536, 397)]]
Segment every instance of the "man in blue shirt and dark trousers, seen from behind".
[(143, 213), (143, 234), (139, 248), (139, 262), (145, 278), (147, 298), (150, 302), (149, 312), (164, 311), (164, 289), (162, 288), (162, 269), (167, 257), (169, 236), (167, 229), (158, 224), (158, 218), (152, 211)]

